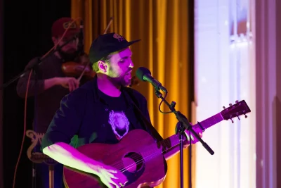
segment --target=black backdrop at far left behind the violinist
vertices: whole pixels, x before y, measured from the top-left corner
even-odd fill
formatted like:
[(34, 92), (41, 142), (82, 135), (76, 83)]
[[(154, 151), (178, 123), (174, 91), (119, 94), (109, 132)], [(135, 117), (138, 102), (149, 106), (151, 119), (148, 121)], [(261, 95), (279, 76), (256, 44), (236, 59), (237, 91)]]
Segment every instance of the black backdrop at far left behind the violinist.
[[(43, 56), (53, 43), (51, 25), (56, 19), (70, 17), (70, 0), (4, 1), (4, 82), (24, 70), (34, 56)], [(0, 29), (2, 30), (2, 28)], [(3, 104), (3, 160), (4, 187), (13, 186), (15, 164), (20, 153), (24, 128), (24, 99), (15, 90), (18, 80), (4, 89)], [(32, 127), (33, 100), (27, 104), (27, 130)], [(32, 187), (32, 162), (27, 158), (25, 142), (18, 166), (15, 187)]]

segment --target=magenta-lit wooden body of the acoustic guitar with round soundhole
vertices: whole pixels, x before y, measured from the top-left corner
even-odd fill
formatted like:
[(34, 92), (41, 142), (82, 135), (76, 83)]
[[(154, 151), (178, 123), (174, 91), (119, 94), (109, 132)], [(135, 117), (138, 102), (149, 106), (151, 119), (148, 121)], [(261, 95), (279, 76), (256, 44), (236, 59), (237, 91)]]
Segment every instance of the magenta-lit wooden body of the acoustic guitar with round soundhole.
[[(144, 130), (132, 130), (118, 144), (86, 144), (77, 148), (86, 156), (124, 171), (126, 188), (155, 187), (166, 177), (167, 165), (155, 140)], [(124, 170), (125, 169), (125, 170)], [(74, 168), (64, 167), (65, 187), (101, 188), (99, 178)]]

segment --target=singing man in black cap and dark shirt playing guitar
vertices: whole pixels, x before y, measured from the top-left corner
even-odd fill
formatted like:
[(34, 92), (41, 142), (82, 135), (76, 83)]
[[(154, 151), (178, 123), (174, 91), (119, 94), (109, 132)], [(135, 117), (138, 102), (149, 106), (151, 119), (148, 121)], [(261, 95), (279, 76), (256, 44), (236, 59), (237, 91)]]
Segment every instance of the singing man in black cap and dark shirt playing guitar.
[(89, 143), (116, 144), (135, 129), (151, 134), (133, 106), (136, 101), (150, 122), (145, 97), (126, 87), (131, 83), (133, 68), (129, 46), (138, 41), (127, 42), (117, 33), (100, 35), (93, 41), (89, 58), (96, 77), (62, 99), (42, 139), (41, 149), (46, 155), (71, 168), (98, 175), (107, 187), (123, 187), (128, 180), (116, 168), (76, 148)]

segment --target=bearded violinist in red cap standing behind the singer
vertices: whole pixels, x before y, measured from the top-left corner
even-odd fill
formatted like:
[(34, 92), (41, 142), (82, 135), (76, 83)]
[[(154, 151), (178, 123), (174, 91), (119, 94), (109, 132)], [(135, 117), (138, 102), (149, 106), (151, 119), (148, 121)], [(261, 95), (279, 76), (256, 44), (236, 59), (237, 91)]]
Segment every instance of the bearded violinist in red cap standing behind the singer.
[[(63, 33), (67, 29), (68, 25), (72, 23), (72, 18), (60, 18), (56, 20), (51, 28), (51, 37), (53, 44), (57, 44)], [(67, 30), (63, 39), (58, 43), (58, 46), (63, 45), (68, 39), (71, 39), (74, 35), (79, 33), (79, 25), (73, 23)], [(78, 38), (73, 39), (67, 43), (60, 50), (48, 56), (44, 61), (38, 65), (36, 71), (37, 79), (35, 79), (34, 71), (30, 78), (30, 84), (28, 89), (28, 97), (37, 95), (36, 112), (34, 113), (33, 130), (34, 132), (44, 134), (48, 128), (48, 125), (53, 119), (55, 111), (60, 108), (60, 100), (66, 94), (69, 94), (74, 89), (77, 89), (79, 85), (84, 84), (86, 79), (78, 80), (75, 75), (66, 75), (63, 66), (75, 65), (75, 62), (83, 64), (87, 63), (88, 58), (83, 56), (80, 58), (81, 53), (77, 50)], [(55, 46), (56, 47), (56, 46)], [(25, 69), (30, 68), (34, 61), (39, 61), (40, 57), (33, 58), (26, 66)], [(24, 76), (20, 77), (17, 84), (18, 96), (25, 98), (25, 92), (27, 89), (27, 80), (29, 77), (27, 72)], [(84, 79), (84, 80), (83, 80)], [(36, 152), (40, 151), (40, 146), (35, 148)], [(48, 188), (48, 165), (45, 163), (39, 163), (36, 167), (37, 171), (37, 187)], [(55, 165), (54, 169), (54, 188), (63, 187), (63, 165), (59, 163)]]

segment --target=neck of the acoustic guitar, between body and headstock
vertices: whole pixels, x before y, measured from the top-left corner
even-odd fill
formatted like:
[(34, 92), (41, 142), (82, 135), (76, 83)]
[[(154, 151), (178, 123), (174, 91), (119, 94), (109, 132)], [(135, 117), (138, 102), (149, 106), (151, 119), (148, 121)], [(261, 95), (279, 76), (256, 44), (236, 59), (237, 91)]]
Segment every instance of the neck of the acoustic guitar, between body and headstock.
[[(217, 113), (216, 115), (211, 116), (210, 118), (207, 118), (206, 120), (203, 120), (202, 122), (197, 123), (193, 125), (193, 129), (201, 129), (201, 127), (204, 130), (207, 130), (207, 128), (216, 125), (216, 123), (219, 123), (223, 120), (223, 116), (221, 113)], [(200, 126), (201, 125), (201, 126)], [(184, 137), (184, 140), (186, 138)], [(163, 139), (158, 144), (161, 144), (163, 146), (162, 153), (169, 151), (169, 149), (173, 149), (174, 147), (178, 146), (180, 144), (178, 134), (174, 134), (171, 137), (168, 137), (166, 139)]]

